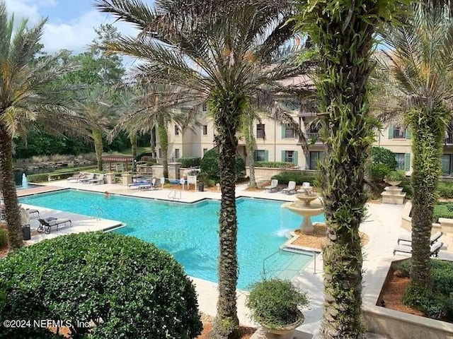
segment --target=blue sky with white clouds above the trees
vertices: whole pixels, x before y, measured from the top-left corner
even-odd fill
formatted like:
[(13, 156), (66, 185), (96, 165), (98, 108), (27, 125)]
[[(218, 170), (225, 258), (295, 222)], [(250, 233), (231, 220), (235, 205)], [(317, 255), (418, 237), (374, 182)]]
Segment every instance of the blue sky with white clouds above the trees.
[[(28, 18), (37, 23), (47, 18), (41, 43), (50, 54), (60, 49), (69, 49), (75, 54), (84, 52), (96, 32), (93, 28), (102, 23), (113, 23), (114, 18), (101, 13), (93, 0), (4, 0), (8, 14), (15, 20)], [(152, 1), (145, 0), (150, 4)], [(125, 35), (136, 35), (136, 30), (127, 23), (116, 23), (117, 29)]]

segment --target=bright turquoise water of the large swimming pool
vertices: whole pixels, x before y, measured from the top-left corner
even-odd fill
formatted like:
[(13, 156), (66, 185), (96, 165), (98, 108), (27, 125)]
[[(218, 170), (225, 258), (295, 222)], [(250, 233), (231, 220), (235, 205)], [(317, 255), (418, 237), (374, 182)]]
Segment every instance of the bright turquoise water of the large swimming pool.
[[(219, 201), (185, 204), (65, 190), (19, 199), (21, 203), (64, 210), (83, 215), (120, 220), (126, 227), (116, 230), (171, 252), (186, 273), (217, 282)], [(299, 227), (299, 215), (281, 208), (282, 202), (239, 198), (238, 214), (238, 288), (263, 278), (292, 278), (312, 256), (278, 251), (286, 241), (285, 233)], [(323, 216), (312, 218), (323, 220)], [(275, 252), (277, 252), (275, 254)], [(270, 258), (267, 258), (270, 256)]]

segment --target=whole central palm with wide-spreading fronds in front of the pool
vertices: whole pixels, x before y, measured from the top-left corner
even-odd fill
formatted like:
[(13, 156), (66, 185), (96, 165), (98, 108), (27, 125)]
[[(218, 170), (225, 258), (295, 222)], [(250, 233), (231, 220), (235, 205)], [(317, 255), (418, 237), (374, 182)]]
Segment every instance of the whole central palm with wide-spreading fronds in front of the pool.
[[(97, 0), (101, 11), (132, 23), (138, 39), (123, 37), (108, 48), (147, 61), (139, 69), (150, 81), (194, 91), (193, 103), (207, 102), (219, 146), (222, 202), (219, 216), (219, 299), (213, 333), (235, 338), (236, 314), (236, 132), (250, 98), (302, 71), (276, 63), (292, 37), (291, 1), (159, 0), (155, 8), (137, 0)], [(273, 64), (274, 61), (274, 64)]]

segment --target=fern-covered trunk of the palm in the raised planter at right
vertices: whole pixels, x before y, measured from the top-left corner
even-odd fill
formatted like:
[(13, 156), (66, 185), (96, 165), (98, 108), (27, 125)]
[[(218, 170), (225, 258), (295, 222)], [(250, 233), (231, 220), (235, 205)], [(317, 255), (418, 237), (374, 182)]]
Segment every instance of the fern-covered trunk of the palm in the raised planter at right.
[(432, 213), (445, 136), (445, 123), (436, 115), (424, 109), (414, 109), (409, 114), (413, 131), (411, 285), (422, 288), (430, 285)]

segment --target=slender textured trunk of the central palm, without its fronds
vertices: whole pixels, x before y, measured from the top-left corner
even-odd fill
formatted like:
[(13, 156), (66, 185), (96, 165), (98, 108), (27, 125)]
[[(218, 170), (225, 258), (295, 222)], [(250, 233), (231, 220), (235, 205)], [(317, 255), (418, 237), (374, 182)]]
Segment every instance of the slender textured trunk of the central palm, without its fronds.
[[(223, 99), (223, 98), (222, 98)], [(225, 100), (231, 100), (226, 97)], [(224, 107), (234, 106), (223, 105)], [(214, 109), (212, 109), (214, 112)], [(238, 280), (238, 258), (236, 251), (236, 126), (239, 121), (237, 110), (225, 109), (214, 113), (217, 129), (216, 143), (219, 145), (220, 186), (222, 201), (219, 218), (219, 299), (217, 316), (212, 333), (216, 339), (238, 338), (239, 319), (236, 307), (236, 285)]]

